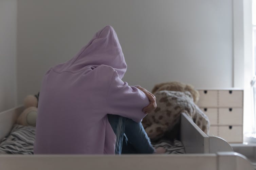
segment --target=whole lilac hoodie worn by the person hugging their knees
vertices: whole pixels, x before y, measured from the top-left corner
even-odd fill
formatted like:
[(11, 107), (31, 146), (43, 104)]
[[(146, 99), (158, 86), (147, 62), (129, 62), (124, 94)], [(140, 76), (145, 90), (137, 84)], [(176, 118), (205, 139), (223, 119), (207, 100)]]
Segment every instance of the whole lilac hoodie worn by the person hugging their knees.
[(124, 54), (111, 26), (66, 63), (45, 73), (36, 122), (35, 154), (114, 154), (115, 134), (107, 114), (140, 122), (149, 104), (128, 86)]

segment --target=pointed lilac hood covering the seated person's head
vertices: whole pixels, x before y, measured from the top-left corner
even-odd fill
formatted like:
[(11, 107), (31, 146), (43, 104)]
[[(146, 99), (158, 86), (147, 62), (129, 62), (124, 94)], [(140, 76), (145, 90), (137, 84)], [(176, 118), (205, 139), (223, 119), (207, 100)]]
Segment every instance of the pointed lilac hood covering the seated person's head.
[[(87, 66), (111, 66), (122, 79), (127, 69), (124, 54), (113, 27), (99, 30), (91, 41), (58, 71), (77, 72)], [(59, 65), (60, 66), (60, 65)]]

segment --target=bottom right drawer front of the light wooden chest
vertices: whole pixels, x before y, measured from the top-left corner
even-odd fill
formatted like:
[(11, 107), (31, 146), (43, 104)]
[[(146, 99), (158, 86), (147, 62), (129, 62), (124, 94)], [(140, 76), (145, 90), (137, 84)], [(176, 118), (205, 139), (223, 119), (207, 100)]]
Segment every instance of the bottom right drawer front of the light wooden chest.
[(227, 142), (243, 142), (242, 133), (242, 126), (219, 126), (219, 137), (225, 139)]

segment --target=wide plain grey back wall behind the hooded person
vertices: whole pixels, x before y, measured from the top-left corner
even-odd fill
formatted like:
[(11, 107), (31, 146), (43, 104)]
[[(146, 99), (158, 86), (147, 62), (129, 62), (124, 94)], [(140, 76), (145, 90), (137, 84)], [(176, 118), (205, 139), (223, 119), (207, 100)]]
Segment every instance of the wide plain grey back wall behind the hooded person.
[(17, 25), (19, 103), (105, 25), (117, 32), (131, 85), (232, 87), (232, 0), (19, 0)]

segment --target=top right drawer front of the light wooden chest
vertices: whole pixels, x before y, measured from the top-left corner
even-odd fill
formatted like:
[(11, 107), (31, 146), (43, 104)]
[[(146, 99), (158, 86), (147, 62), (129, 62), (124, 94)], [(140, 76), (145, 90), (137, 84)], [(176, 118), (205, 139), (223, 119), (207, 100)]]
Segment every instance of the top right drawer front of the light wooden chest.
[(243, 107), (243, 91), (220, 90), (218, 105), (221, 107)]

